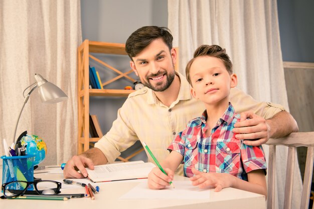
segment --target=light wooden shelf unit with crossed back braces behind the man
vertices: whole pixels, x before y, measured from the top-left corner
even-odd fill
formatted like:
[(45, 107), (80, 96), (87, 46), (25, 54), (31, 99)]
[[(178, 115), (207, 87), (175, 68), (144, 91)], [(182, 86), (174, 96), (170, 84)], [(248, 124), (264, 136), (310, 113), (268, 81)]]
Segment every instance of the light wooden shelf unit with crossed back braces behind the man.
[(89, 88), (89, 60), (94, 59), (100, 64), (104, 65), (108, 70), (115, 71), (118, 75), (111, 80), (101, 83), (103, 86), (114, 82), (115, 80), (125, 77), (132, 82), (135, 79), (128, 76), (133, 70), (121, 72), (112, 67), (106, 62), (96, 58), (90, 53), (104, 53), (104, 54), (120, 54), (127, 55), (124, 50), (123, 43), (110, 43), (100, 41), (84, 40), (78, 47), (78, 154), (89, 149), (90, 142), (96, 142), (100, 138), (89, 137), (89, 97), (90, 96), (128, 96), (134, 90), (125, 89), (90, 89)]

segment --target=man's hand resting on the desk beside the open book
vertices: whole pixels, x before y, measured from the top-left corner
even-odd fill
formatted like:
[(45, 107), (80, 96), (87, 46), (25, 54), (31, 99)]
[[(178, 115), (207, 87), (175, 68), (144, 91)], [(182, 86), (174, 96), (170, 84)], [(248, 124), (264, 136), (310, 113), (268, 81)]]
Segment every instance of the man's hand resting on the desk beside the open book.
[[(92, 160), (82, 155), (74, 155), (70, 160), (67, 161), (63, 169), (63, 175), (65, 178), (85, 178), (88, 175), (85, 167), (89, 167), (93, 170), (94, 164)], [(80, 170), (81, 173), (76, 171), (77, 169), (75, 168)]]

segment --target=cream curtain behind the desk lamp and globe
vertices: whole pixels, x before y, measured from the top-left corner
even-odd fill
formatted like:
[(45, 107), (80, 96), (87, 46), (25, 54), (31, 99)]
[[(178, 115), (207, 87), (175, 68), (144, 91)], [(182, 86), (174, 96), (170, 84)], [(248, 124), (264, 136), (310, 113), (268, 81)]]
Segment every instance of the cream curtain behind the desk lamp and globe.
[(27, 130), (44, 139), (48, 151), (40, 165), (60, 164), (77, 153), (76, 54), (82, 42), (80, 18), (80, 0), (0, 1), (2, 155), (2, 139), (13, 142), (23, 91), (35, 82), (35, 73), (59, 86), (68, 99), (43, 104), (36, 89), (22, 112), (17, 137)]

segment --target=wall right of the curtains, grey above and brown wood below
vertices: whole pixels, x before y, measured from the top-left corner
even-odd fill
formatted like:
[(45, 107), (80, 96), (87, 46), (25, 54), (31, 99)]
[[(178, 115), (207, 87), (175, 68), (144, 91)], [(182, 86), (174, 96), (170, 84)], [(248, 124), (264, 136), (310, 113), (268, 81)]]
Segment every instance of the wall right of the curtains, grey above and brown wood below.
[[(314, 1), (277, 0), (277, 3), (283, 61), (314, 62)], [(314, 68), (285, 68), (284, 75), (290, 113), (299, 131), (314, 131)], [(306, 147), (297, 147), (302, 177), (306, 151)]]

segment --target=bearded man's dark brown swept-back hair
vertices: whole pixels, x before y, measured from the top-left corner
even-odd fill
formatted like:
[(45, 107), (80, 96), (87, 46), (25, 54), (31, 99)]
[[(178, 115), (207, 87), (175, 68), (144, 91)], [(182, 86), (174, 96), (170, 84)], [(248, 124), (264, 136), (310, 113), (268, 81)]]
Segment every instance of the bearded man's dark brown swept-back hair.
[(173, 36), (167, 27), (143, 26), (135, 30), (125, 42), (125, 52), (132, 59), (141, 52), (151, 41), (156, 38), (163, 38), (168, 45), (169, 51), (172, 49)]

